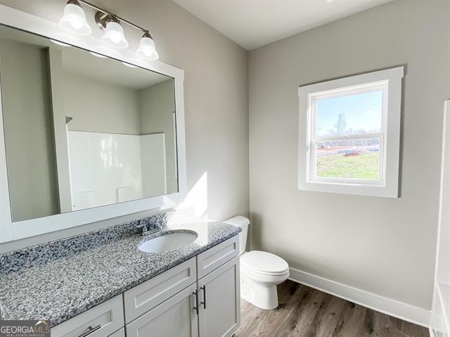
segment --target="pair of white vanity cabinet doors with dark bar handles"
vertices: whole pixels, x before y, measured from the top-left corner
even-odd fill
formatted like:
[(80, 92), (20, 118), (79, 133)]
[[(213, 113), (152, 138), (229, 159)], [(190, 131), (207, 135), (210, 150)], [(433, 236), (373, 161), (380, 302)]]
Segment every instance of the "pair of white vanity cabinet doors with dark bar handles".
[(232, 336), (240, 322), (239, 298), (236, 257), (127, 324), (127, 337)]

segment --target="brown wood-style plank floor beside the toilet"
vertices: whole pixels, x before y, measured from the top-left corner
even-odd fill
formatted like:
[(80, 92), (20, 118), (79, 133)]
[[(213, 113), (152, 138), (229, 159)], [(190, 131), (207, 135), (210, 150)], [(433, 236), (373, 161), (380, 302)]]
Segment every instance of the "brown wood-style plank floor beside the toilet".
[(428, 329), (286, 281), (278, 286), (276, 310), (242, 300), (236, 337), (429, 337)]

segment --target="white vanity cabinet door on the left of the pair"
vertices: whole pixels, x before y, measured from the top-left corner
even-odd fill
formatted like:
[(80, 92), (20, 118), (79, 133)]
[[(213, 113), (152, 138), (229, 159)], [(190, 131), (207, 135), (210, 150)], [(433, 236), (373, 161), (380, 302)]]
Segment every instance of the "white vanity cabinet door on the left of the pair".
[(198, 337), (196, 284), (127, 324), (127, 337)]

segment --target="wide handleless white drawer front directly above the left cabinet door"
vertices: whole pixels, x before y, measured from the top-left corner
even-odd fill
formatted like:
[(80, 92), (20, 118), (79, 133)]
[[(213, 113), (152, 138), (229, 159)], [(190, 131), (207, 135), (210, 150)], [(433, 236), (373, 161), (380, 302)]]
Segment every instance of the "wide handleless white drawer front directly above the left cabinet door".
[(196, 281), (195, 258), (124, 292), (125, 321), (131, 322)]

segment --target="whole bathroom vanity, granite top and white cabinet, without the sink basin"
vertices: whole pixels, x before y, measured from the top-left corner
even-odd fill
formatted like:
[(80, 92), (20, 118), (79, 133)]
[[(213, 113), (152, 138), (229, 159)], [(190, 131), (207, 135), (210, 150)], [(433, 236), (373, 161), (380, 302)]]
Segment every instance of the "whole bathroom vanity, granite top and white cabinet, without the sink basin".
[[(240, 229), (181, 223), (148, 237), (135, 229), (122, 224), (0, 256), (4, 319), (50, 319), (57, 337), (232, 336)], [(139, 250), (187, 231), (198, 237), (180, 249)]]

